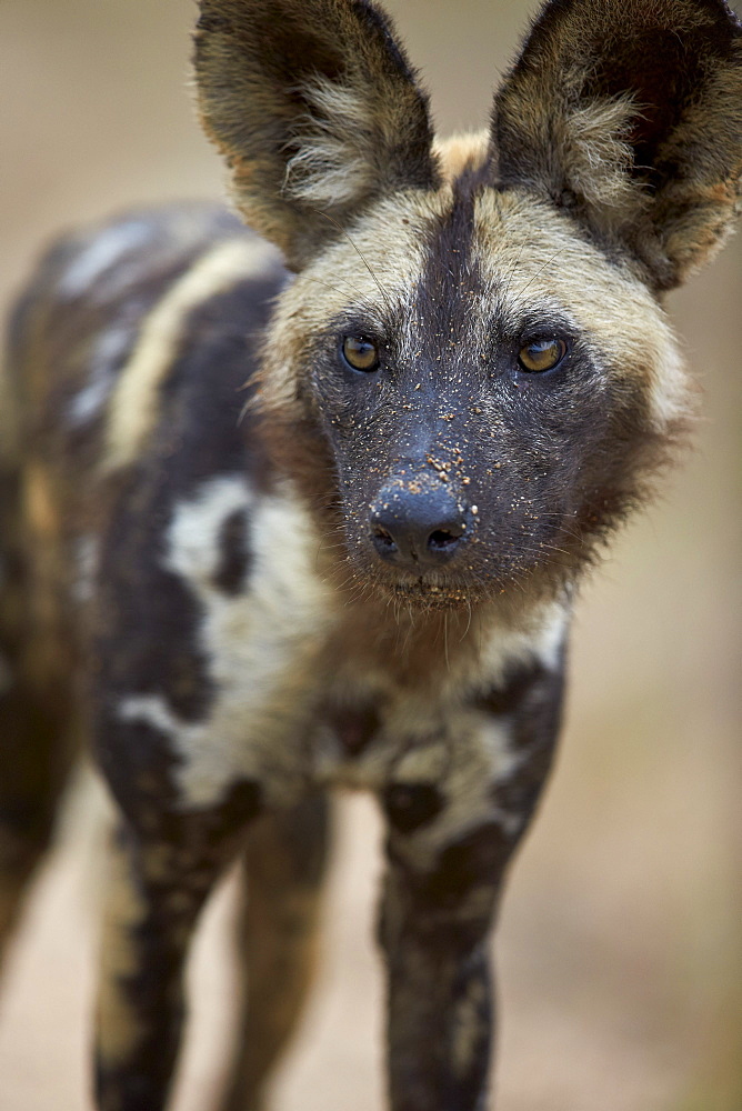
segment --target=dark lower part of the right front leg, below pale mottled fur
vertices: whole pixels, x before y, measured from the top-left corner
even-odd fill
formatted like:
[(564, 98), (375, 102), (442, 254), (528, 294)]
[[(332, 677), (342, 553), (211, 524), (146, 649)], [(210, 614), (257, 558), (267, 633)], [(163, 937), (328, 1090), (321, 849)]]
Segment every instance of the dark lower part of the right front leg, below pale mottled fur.
[(390, 851), (381, 942), (393, 1111), (484, 1105), (492, 1028), (488, 937), (509, 839), (487, 822), (418, 871)]

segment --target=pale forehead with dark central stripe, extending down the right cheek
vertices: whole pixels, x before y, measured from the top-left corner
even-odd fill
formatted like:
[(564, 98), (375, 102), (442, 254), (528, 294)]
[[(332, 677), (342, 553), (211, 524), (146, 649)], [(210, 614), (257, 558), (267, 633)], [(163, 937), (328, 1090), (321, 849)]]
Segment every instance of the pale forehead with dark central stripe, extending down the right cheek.
[(548, 202), (490, 184), (477, 163), (458, 171), (371, 207), (287, 291), (277, 339), (368, 323), (405, 364), (422, 359), (445, 377), (484, 367), (500, 337), (512, 346), (559, 332), (579, 339), (601, 376), (648, 391), (651, 419), (682, 409), (672, 331), (629, 263)]

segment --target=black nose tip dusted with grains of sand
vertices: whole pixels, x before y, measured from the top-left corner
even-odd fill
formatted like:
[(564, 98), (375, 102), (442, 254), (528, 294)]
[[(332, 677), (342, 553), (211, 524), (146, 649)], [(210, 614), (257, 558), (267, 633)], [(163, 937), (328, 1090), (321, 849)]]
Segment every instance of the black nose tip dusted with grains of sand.
[(462, 543), (465, 511), (442, 483), (390, 482), (369, 516), (371, 541), (395, 567), (420, 571), (448, 563)]

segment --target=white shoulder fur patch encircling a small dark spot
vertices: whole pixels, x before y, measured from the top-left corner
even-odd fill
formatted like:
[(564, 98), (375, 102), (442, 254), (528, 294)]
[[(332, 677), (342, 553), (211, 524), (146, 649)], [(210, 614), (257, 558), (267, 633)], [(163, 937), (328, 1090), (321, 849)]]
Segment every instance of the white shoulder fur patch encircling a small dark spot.
[[(224, 520), (242, 508), (250, 522), (249, 589), (228, 597), (213, 581), (218, 540)], [(330, 588), (313, 569), (318, 547), (312, 522), (289, 489), (253, 497), (239, 474), (203, 483), (176, 508), (163, 565), (201, 603), (198, 637), (214, 702), (207, 720), (193, 724), (178, 721), (150, 695), (134, 708), (173, 737), (190, 805), (219, 802), (239, 777), (274, 783), (279, 792), (305, 779), (303, 727), (333, 621)]]

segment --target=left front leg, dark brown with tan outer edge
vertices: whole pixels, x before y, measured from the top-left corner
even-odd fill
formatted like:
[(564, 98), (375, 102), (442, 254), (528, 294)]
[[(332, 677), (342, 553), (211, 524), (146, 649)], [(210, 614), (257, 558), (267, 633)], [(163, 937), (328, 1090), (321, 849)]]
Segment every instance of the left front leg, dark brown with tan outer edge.
[(112, 843), (97, 1015), (100, 1111), (162, 1111), (178, 1048), (183, 968), (199, 911), (235, 855), (259, 791), (208, 810), (150, 811)]

